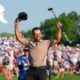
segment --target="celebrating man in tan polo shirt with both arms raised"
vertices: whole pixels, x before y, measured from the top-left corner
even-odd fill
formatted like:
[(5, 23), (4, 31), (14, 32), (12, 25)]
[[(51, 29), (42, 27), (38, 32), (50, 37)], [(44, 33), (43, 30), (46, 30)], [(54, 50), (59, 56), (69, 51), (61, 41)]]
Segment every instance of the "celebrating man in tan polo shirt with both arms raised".
[[(16, 39), (23, 45), (28, 45), (30, 48), (29, 53), (29, 70), (25, 77), (25, 80), (46, 80), (47, 71), (46, 71), (46, 57), (47, 51), (50, 46), (50, 40), (43, 40), (41, 29), (35, 27), (32, 29), (33, 39), (28, 39), (21, 36), (19, 32), (19, 23), (21, 20), (18, 18), (15, 20), (15, 36)], [(53, 44), (57, 44), (61, 39), (61, 27), (62, 24), (59, 22), (57, 24), (58, 35), (57, 39), (53, 40)]]

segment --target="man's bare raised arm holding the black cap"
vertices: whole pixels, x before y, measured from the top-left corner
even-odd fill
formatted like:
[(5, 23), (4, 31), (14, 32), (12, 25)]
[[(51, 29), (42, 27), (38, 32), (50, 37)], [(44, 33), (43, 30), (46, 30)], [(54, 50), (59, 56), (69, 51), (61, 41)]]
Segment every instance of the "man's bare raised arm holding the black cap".
[(26, 40), (26, 38), (22, 37), (21, 33), (19, 32), (19, 20), (18, 19), (15, 20), (14, 27), (15, 27), (15, 36), (16, 36), (16, 39), (20, 43), (22, 43), (22, 44), (25, 45), (25, 43), (26, 43), (27, 40)]

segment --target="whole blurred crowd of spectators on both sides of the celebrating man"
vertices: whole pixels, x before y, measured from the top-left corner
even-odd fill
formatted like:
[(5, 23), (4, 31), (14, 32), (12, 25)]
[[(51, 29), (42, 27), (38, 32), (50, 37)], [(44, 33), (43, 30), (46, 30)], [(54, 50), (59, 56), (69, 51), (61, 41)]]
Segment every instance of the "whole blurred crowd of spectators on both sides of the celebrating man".
[[(19, 65), (22, 63), (19, 59), (22, 59), (21, 56), (24, 55), (26, 51), (28, 50), (16, 41), (15, 38), (0, 40), (0, 63), (4, 64), (4, 66), (10, 70), (10, 76), (16, 74), (17, 77), (19, 77), (19, 75), (23, 74), (23, 71), (20, 71), (21, 66)], [(5, 59), (7, 63), (5, 63)], [(28, 60), (28, 55), (26, 60)], [(26, 65), (24, 70), (27, 70), (29, 62), (25, 62), (24, 60), (23, 64), (24, 63)], [(80, 74), (80, 49), (64, 46), (63, 44), (52, 46), (48, 50), (47, 63), (48, 66), (50, 66), (50, 73), (58, 73), (56, 77), (60, 75), (63, 76), (64, 74)]]

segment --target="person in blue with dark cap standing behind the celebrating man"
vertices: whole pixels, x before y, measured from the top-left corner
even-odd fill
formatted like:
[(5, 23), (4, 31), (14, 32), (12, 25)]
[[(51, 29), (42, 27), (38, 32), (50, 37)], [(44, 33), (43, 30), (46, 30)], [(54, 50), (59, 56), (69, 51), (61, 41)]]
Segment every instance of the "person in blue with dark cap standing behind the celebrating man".
[(19, 68), (19, 80), (25, 80), (25, 75), (27, 74), (29, 61), (28, 61), (28, 47), (23, 49), (24, 54), (18, 57), (18, 68)]

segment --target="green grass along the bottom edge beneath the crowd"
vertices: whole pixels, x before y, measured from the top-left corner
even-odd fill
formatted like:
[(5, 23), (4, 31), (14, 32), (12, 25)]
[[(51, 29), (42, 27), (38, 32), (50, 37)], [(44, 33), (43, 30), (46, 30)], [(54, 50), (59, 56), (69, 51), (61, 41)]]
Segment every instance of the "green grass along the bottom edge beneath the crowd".
[[(0, 80), (5, 80), (3, 75), (0, 75)], [(12, 80), (18, 80), (16, 76), (13, 77)], [(48, 80), (48, 79), (47, 79)], [(63, 78), (55, 78), (54, 75), (51, 75), (51, 80), (80, 80), (80, 75), (65, 75)]]

